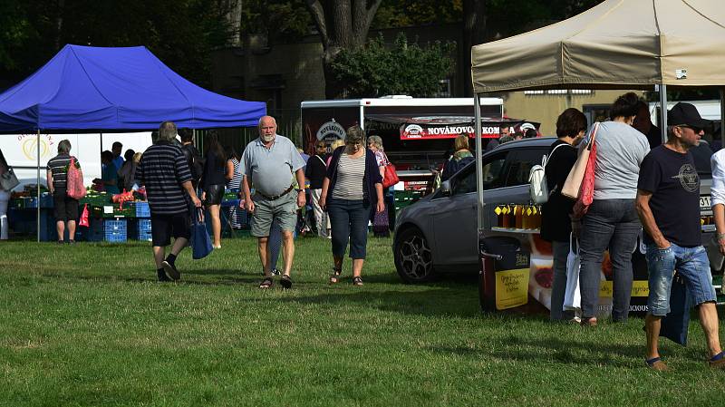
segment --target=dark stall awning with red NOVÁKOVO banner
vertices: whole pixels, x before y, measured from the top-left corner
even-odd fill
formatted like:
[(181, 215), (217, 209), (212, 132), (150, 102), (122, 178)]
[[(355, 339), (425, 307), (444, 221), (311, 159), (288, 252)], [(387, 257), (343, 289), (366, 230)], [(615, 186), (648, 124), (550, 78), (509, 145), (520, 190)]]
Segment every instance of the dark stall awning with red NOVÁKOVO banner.
[[(473, 116), (401, 116), (396, 114), (369, 114), (368, 121), (399, 125), (401, 140), (436, 140), (455, 139), (461, 134), (474, 136)], [(509, 118), (481, 118), (481, 137), (497, 139), (501, 127), (508, 127), (517, 132), (523, 123), (531, 123), (538, 129), (540, 123)], [(374, 126), (368, 128), (374, 129)]]

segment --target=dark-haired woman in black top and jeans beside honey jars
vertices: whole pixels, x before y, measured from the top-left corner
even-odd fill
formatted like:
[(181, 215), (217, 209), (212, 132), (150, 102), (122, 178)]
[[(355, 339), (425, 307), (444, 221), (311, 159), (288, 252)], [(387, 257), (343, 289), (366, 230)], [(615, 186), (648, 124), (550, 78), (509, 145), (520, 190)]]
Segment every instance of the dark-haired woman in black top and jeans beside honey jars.
[(566, 257), (569, 255), (571, 237), (571, 214), (574, 201), (562, 196), (569, 171), (576, 162), (575, 146), (582, 140), (586, 131), (586, 116), (581, 111), (569, 108), (556, 120), (556, 137), (547, 153), (546, 186), (549, 199), (542, 208), (541, 238), (550, 241), (554, 252), (554, 284), (551, 287), (552, 321), (571, 320), (574, 313), (564, 312), (564, 293), (566, 289)]

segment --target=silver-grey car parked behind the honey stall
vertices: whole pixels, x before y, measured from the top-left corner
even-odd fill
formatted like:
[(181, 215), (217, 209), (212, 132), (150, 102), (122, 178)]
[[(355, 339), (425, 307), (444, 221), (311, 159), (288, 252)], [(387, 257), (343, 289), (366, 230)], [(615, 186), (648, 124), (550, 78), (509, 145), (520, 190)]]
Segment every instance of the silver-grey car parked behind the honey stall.
[[(531, 167), (540, 163), (553, 137), (511, 141), (483, 155), (484, 190), (487, 208), (498, 204), (527, 203), (528, 175)], [(709, 148), (708, 148), (709, 150)], [(710, 152), (711, 154), (711, 152)], [(696, 160), (697, 162), (697, 160)], [(698, 165), (701, 175), (702, 217), (711, 219), (710, 163)], [(406, 283), (422, 283), (440, 273), (477, 273), (477, 193), (475, 163), (459, 170), (440, 189), (420, 199), (398, 215), (393, 238), (395, 267)], [(512, 236), (491, 230), (495, 221), (492, 211), (486, 211), (485, 233)], [(703, 227), (702, 242), (710, 242), (714, 226)], [(521, 237), (521, 240), (528, 240)], [(527, 245), (527, 242), (522, 242)]]

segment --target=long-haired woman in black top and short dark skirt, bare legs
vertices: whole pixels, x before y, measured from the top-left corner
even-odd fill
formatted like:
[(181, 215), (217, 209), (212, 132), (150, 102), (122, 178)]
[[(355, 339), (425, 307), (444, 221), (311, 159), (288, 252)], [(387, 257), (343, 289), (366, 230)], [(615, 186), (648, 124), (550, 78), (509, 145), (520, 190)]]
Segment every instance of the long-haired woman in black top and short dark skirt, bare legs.
[(201, 174), (201, 200), (205, 202), (211, 218), (212, 246), (221, 248), (221, 219), (219, 208), (227, 184), (227, 153), (218, 141), (217, 133), (207, 135), (207, 154), (204, 171)]

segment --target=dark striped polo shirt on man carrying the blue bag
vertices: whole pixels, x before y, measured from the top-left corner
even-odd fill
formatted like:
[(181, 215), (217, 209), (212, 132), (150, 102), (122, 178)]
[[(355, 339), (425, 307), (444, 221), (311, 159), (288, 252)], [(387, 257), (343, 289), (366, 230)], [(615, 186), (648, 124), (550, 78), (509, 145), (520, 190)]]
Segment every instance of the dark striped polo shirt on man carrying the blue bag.
[(174, 215), (189, 210), (181, 184), (191, 180), (191, 171), (179, 146), (159, 142), (146, 149), (136, 179), (146, 187), (151, 214)]

